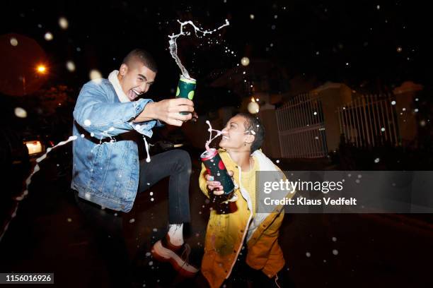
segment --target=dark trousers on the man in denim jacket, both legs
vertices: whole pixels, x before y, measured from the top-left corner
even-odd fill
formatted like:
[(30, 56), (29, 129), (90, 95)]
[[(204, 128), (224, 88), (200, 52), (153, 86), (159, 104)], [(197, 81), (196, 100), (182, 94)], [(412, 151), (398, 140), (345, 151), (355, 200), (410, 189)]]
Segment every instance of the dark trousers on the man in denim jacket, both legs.
[[(139, 192), (170, 176), (168, 188), (168, 221), (170, 224), (190, 222), (191, 160), (183, 150), (170, 150), (140, 162)], [(149, 184), (148, 184), (149, 183)], [(76, 203), (96, 233), (100, 255), (105, 258), (112, 287), (128, 287), (131, 282), (130, 263), (123, 237), (122, 212), (101, 210), (99, 205), (78, 197)]]

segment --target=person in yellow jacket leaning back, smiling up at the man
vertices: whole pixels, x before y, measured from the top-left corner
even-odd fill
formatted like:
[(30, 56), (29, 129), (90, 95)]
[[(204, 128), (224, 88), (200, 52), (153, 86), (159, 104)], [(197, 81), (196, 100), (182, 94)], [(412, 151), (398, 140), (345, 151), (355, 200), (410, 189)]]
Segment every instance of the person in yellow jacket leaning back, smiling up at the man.
[[(219, 155), (239, 188), (234, 191), (235, 208), (223, 213), (214, 209), (210, 213), (202, 275), (212, 288), (220, 287), (229, 278), (244, 241), (248, 248), (246, 263), (258, 273), (264, 273), (265, 287), (281, 285), (277, 272), (284, 267), (284, 258), (277, 238), (284, 210), (279, 208), (270, 214), (255, 211), (255, 172), (275, 171), (284, 178), (279, 168), (259, 150), (264, 137), (260, 121), (250, 114), (233, 116), (222, 130)], [(209, 198), (224, 193), (224, 187), (207, 174), (204, 165), (199, 183)]]

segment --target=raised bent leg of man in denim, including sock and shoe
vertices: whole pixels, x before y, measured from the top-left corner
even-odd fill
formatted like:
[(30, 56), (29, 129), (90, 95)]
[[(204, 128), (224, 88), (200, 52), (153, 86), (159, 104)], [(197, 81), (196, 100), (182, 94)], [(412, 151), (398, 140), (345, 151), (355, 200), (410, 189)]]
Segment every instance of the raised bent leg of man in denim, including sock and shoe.
[(168, 233), (157, 241), (152, 253), (158, 260), (170, 261), (185, 276), (198, 271), (188, 263), (190, 246), (183, 241), (183, 223), (190, 222), (190, 155), (183, 150), (170, 150), (140, 162), (139, 193), (170, 176), (168, 184)]

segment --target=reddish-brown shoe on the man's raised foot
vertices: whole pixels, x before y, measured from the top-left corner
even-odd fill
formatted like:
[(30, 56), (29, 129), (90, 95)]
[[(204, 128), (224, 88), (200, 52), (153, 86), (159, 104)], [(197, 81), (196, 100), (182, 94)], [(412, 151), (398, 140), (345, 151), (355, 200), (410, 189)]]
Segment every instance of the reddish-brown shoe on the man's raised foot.
[(170, 262), (173, 268), (184, 277), (194, 277), (199, 271), (197, 268), (188, 263), (191, 247), (188, 244), (175, 246), (170, 243), (170, 237), (166, 235), (163, 239), (157, 241), (152, 247), (152, 256), (161, 262)]

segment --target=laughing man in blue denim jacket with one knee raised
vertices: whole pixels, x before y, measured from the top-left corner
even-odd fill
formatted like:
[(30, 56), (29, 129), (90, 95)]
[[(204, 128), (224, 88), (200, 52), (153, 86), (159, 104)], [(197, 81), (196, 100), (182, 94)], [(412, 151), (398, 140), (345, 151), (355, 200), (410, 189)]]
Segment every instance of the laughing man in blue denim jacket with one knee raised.
[[(162, 125), (160, 121), (181, 126), (192, 115), (197, 116), (179, 113), (194, 112), (190, 100), (153, 102), (140, 97), (154, 83), (156, 72), (151, 55), (134, 49), (127, 54), (119, 71), (112, 71), (108, 79), (91, 80), (83, 86), (74, 109), (73, 129), (78, 138), (73, 145), (71, 188), (78, 191), (76, 199), (80, 207), (101, 230), (104, 241), (114, 238), (112, 241), (118, 244), (118, 249), (111, 247), (109, 253), (119, 253), (119, 258), (124, 258), (122, 221), (116, 219), (114, 212), (129, 212), (137, 191), (142, 192), (170, 176), (168, 234), (156, 243), (154, 250), (162, 259), (176, 263), (175, 268), (181, 272), (194, 274), (197, 268), (180, 257), (188, 248), (183, 241), (183, 223), (190, 221), (190, 156), (182, 150), (171, 150), (154, 155), (150, 162), (148, 153), (148, 161), (139, 161), (134, 137), (138, 132), (142, 134), (139, 140), (146, 143), (144, 136), (151, 137), (151, 129)], [(110, 244), (106, 246), (110, 250)], [(117, 266), (125, 269), (123, 264)]]

